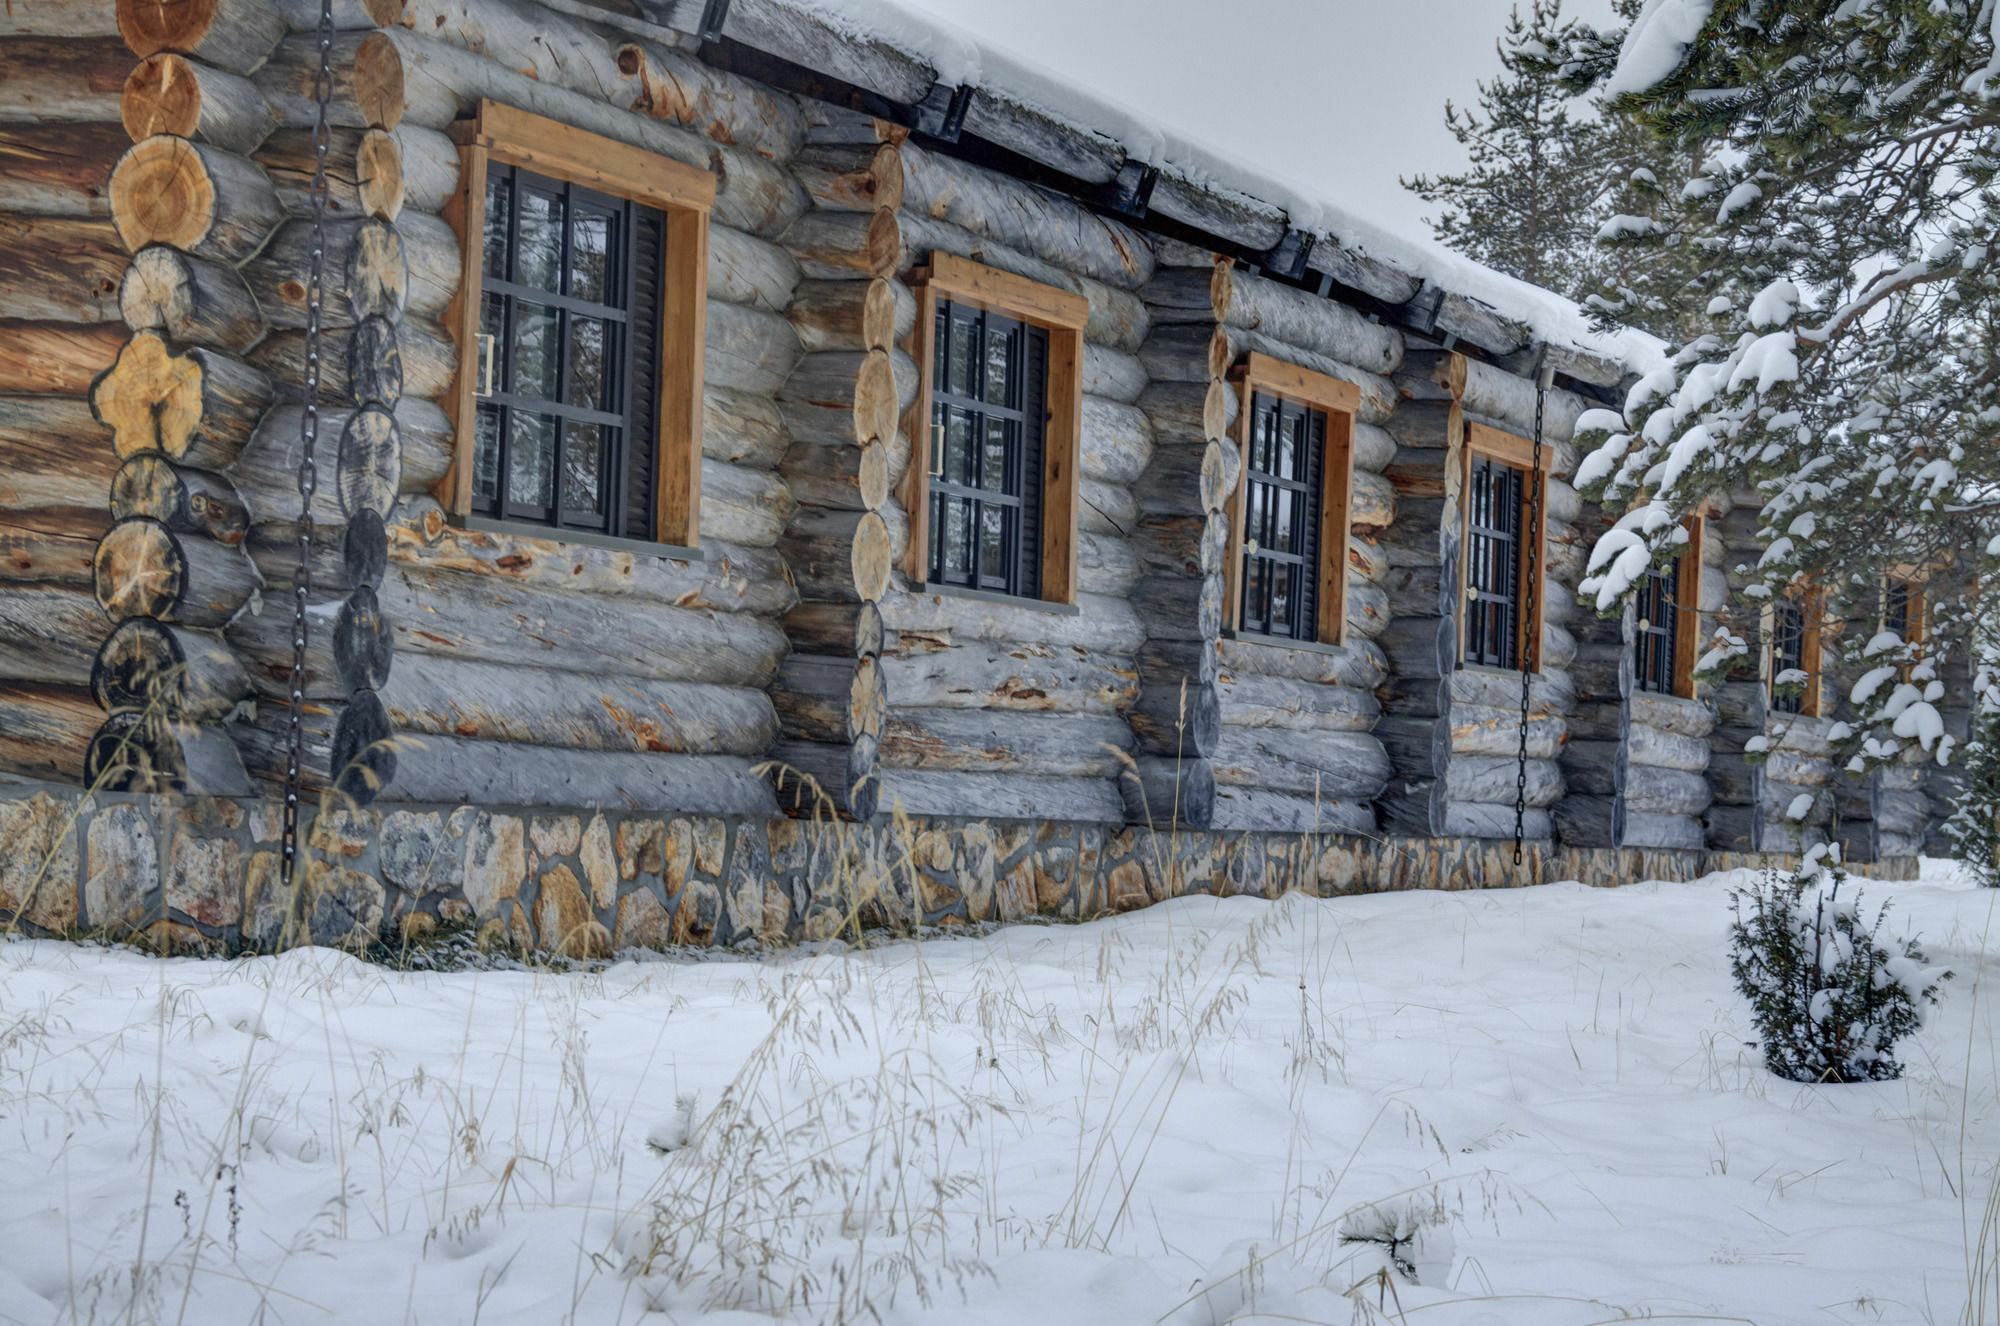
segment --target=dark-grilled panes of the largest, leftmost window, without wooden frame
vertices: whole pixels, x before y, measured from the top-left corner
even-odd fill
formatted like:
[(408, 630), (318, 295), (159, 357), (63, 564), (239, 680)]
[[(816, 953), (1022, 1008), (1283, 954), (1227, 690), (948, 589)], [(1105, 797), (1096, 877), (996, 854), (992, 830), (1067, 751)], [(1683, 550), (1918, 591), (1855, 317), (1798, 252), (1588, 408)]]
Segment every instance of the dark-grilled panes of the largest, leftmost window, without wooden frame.
[(662, 212), (486, 170), (472, 510), (654, 536)]

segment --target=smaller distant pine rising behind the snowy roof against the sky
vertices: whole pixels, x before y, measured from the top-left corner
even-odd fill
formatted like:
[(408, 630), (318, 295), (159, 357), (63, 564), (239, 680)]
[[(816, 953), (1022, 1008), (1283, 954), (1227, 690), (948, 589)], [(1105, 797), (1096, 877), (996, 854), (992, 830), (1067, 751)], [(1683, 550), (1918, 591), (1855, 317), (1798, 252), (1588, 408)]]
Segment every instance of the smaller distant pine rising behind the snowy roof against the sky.
[(1594, 284), (1592, 230), (1604, 192), (1600, 136), (1572, 114), (1562, 52), (1576, 24), (1562, 0), (1516, 6), (1500, 36), (1502, 74), (1478, 84), (1478, 110), (1444, 102), (1444, 126), (1466, 146), (1464, 174), (1402, 186), (1444, 210), (1438, 238), (1486, 266), (1582, 298)]

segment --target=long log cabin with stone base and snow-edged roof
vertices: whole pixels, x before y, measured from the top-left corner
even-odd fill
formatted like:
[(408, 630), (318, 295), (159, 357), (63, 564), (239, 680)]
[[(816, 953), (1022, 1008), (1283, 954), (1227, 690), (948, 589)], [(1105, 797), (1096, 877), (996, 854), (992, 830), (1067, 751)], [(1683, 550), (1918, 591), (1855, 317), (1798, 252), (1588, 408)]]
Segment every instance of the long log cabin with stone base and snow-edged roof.
[(0, 910), (604, 952), (1938, 850), (1754, 494), (1578, 602), (1634, 340), (1046, 100), (792, 0), (0, 10)]

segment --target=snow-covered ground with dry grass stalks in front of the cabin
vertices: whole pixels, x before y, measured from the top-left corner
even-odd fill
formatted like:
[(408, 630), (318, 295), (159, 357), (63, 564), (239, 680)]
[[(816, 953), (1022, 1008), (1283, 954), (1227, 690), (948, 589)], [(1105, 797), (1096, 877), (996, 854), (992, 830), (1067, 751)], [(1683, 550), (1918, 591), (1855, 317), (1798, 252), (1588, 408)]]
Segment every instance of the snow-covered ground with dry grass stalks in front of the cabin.
[[(1868, 886), (1958, 978), (1902, 1082), (1800, 1088), (1728, 882), (588, 976), (10, 944), (0, 1320), (1958, 1324), (2000, 894)], [(1342, 1242), (1398, 1228), (1414, 1284)]]

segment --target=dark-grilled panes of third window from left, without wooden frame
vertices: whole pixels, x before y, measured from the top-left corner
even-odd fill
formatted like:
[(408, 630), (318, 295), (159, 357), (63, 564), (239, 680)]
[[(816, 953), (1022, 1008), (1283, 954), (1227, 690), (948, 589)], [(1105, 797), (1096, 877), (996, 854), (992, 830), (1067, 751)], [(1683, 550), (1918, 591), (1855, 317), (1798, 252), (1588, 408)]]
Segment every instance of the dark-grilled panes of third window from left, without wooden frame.
[(1244, 472), (1242, 630), (1318, 638), (1326, 414), (1252, 392)]

